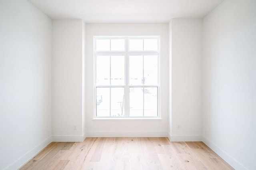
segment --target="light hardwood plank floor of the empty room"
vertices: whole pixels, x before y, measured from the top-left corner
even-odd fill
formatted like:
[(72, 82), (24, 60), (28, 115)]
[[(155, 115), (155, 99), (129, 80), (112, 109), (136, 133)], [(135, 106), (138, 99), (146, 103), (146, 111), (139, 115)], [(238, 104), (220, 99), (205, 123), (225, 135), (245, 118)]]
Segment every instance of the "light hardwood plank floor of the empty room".
[(203, 142), (86, 138), (52, 142), (21, 170), (233, 170)]

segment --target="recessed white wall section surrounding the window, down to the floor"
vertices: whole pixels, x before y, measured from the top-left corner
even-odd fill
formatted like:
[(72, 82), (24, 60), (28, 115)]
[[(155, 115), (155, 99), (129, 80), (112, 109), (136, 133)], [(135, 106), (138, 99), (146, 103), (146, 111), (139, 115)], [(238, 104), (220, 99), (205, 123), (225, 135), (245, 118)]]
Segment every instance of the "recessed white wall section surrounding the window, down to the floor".
[[(93, 36), (161, 36), (162, 120), (92, 120), (94, 118)], [(168, 23), (86, 24), (86, 135), (166, 136), (168, 131)]]

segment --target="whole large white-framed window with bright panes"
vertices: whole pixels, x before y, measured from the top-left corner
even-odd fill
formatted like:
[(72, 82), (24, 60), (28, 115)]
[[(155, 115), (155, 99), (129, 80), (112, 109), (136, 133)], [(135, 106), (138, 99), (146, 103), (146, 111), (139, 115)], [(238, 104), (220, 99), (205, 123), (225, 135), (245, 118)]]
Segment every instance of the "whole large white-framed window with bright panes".
[(159, 117), (160, 36), (94, 36), (95, 117)]

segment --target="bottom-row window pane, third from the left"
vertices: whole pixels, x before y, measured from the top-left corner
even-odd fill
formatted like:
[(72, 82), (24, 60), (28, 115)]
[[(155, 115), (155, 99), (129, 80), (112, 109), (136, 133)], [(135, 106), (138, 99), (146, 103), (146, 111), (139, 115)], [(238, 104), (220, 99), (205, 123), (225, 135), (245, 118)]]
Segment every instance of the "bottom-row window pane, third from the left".
[(130, 87), (130, 117), (143, 116), (143, 87)]

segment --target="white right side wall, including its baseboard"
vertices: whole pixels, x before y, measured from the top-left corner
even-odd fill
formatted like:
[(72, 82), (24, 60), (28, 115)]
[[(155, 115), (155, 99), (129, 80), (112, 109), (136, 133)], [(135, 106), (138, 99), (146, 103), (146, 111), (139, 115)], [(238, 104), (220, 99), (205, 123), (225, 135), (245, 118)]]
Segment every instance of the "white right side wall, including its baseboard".
[(203, 141), (255, 170), (256, 1), (226, 0), (204, 18)]

